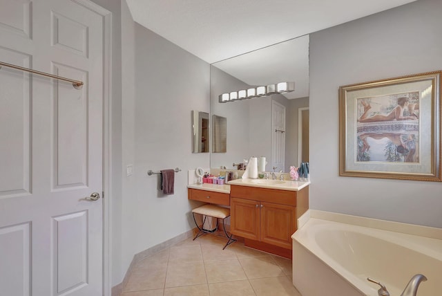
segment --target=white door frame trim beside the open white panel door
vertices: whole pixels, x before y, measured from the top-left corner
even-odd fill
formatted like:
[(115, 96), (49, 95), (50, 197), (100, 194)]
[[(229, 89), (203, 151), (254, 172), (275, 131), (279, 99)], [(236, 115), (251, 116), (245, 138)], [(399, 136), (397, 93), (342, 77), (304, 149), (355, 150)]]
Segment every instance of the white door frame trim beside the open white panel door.
[(71, 0), (103, 18), (103, 295), (111, 295), (111, 100), (112, 100), (112, 12), (90, 0)]

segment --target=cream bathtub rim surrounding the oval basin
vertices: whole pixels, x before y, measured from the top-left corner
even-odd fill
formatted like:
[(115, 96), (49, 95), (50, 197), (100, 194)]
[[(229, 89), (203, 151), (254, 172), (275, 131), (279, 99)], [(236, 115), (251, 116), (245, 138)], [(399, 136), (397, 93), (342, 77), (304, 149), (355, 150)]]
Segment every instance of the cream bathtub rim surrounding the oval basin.
[[(318, 219), (317, 217), (325, 219)], [(336, 228), (340, 230), (362, 232), (368, 236), (375, 237), (376, 239), (383, 239), (442, 261), (442, 239), (438, 239), (439, 234), (441, 234), (439, 232), (442, 231), (441, 229), (430, 228), (430, 231), (428, 231), (425, 229), (427, 228), (426, 226), (417, 225), (419, 227), (414, 228), (414, 225), (410, 225), (409, 228), (407, 224), (401, 223), (398, 227), (398, 225), (389, 225), (392, 223), (390, 221), (373, 222), (371, 220), (376, 219), (309, 210), (305, 216), (301, 216), (300, 219), (298, 219), (298, 225), (300, 227), (298, 228), (298, 231), (292, 235), (292, 239), (294, 239), (294, 243), (298, 243), (298, 245), (302, 246), (302, 248), (310, 252), (318, 260), (322, 261), (327, 268), (332, 269), (337, 275), (345, 279), (348, 284), (365, 295), (377, 295), (377, 287), (370, 287), (370, 284), (365, 282), (365, 279), (361, 278), (361, 275), (354, 275), (335, 259), (329, 257), (325, 250), (322, 249), (323, 246), (318, 246), (316, 243), (314, 237), (315, 232), (322, 231), (324, 228), (327, 229), (327, 225), (334, 224), (336, 225)], [(356, 222), (356, 225), (354, 223), (343, 223), (343, 221)], [(393, 222), (393, 224), (396, 223)], [(367, 227), (367, 225), (374, 225), (377, 227)], [(305, 228), (305, 231), (302, 228)], [(395, 232), (394, 230), (396, 229), (402, 231)], [(407, 231), (408, 229), (411, 231)], [(410, 234), (410, 232), (412, 232), (412, 234)], [(424, 235), (417, 235), (419, 233)], [(376, 275), (366, 276), (376, 278)], [(389, 285), (387, 288), (389, 288), (390, 293), (393, 293), (392, 295), (399, 295), (401, 293), (399, 287)]]

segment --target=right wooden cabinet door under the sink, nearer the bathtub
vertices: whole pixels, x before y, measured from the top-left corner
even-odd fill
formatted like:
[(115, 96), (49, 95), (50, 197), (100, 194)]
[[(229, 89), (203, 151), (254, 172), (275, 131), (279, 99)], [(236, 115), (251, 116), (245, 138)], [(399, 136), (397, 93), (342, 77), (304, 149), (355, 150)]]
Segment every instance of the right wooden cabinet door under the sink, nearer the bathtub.
[(262, 202), (260, 215), (260, 241), (291, 249), (291, 234), (296, 230), (296, 207)]

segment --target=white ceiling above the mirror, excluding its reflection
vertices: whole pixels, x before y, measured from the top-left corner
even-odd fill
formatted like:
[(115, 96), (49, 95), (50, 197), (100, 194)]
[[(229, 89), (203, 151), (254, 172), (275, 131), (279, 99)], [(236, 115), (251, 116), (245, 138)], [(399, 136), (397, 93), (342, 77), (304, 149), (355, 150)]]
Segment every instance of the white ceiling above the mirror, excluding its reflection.
[(209, 64), (415, 0), (126, 0), (133, 19)]

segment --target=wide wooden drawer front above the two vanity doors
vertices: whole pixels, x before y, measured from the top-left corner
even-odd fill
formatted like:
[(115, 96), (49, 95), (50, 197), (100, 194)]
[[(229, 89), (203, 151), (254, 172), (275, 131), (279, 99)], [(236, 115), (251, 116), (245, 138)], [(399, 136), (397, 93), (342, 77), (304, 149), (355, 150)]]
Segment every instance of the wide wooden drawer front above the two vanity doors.
[(231, 197), (296, 206), (296, 191), (231, 185)]

